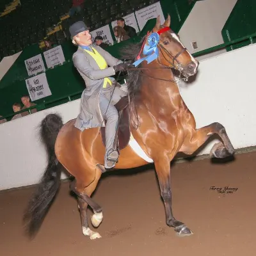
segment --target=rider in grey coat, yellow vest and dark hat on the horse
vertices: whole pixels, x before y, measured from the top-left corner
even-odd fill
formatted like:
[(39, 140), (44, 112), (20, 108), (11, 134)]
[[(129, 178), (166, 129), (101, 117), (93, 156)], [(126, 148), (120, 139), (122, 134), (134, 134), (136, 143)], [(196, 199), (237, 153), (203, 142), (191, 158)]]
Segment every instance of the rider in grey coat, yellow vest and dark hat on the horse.
[(78, 21), (72, 24), (69, 31), (72, 43), (78, 46), (72, 60), (86, 84), (86, 89), (81, 95), (81, 113), (77, 116), (74, 126), (83, 131), (104, 126), (104, 119), (107, 121), (104, 167), (113, 168), (118, 161), (115, 143), (118, 111), (114, 105), (127, 95), (127, 92), (115, 87), (116, 81), (110, 76), (126, 70), (128, 64), (114, 58), (98, 45), (92, 45), (92, 36), (84, 22)]

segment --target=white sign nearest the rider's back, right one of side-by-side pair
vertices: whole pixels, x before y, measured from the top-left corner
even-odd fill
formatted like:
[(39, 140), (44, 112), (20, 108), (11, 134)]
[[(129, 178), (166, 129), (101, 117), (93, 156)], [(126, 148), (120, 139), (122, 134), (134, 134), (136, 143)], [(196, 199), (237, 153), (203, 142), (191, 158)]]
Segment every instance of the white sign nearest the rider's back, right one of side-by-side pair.
[(48, 51), (45, 51), (44, 58), (47, 68), (51, 68), (55, 65), (62, 64), (65, 61), (65, 57), (61, 45), (58, 45), (52, 49), (49, 49)]

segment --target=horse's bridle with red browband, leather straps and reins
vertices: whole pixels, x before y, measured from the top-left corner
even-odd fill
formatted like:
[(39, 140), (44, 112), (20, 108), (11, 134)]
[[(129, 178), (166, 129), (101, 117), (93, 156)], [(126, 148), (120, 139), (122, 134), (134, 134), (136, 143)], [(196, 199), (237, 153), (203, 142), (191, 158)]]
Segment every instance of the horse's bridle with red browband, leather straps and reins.
[[(161, 33), (164, 33), (164, 32), (166, 32), (166, 31), (170, 31), (170, 28), (169, 28), (169, 27), (164, 27), (164, 28), (162, 28), (162, 29), (159, 29), (159, 31), (157, 31), (157, 34), (158, 34), (158, 35), (161, 35)], [(152, 32), (152, 31), (150, 31), (150, 32)], [(148, 31), (148, 33), (147, 33), (147, 36), (146, 36), (146, 38), (145, 38), (145, 40), (144, 40), (144, 42), (143, 42), (143, 45), (141, 46), (141, 50), (140, 50), (140, 52), (139, 52), (139, 54), (138, 54), (138, 56), (137, 56), (137, 60), (138, 60), (139, 58), (141, 58), (141, 52), (143, 51), (143, 47), (144, 47), (144, 45), (145, 45), (145, 42), (146, 42), (146, 40), (147, 40), (148, 35), (149, 35), (150, 32)], [(164, 57), (164, 59), (165, 59), (168, 63), (170, 63), (170, 65), (172, 65), (172, 67), (166, 67), (166, 65), (163, 65), (163, 64), (161, 63), (160, 59), (159, 59), (159, 54), (158, 54), (158, 56), (157, 56), (157, 62), (158, 62), (159, 65), (161, 65), (161, 66), (163, 66), (163, 67), (157, 67), (157, 68), (154, 68), (154, 67), (137, 68), (137, 67), (136, 67), (136, 68), (127, 68), (127, 70), (172, 69), (172, 68), (173, 68), (173, 69), (179, 71), (179, 73), (180, 73), (179, 79), (182, 78), (184, 81), (188, 81), (188, 77), (185, 77), (185, 76), (184, 76), (184, 77), (181, 77), (181, 76), (182, 76), (181, 71), (182, 71), (183, 68), (182, 68), (182, 64), (180, 63), (180, 61), (177, 60), (177, 59), (179, 58), (180, 54), (182, 54), (183, 52), (187, 51), (187, 48), (182, 46), (181, 51), (179, 51), (175, 56), (173, 56), (170, 52), (168, 52), (167, 49), (164, 47), (164, 45), (161, 44), (160, 42), (157, 43), (157, 48), (158, 48), (159, 51), (161, 52), (161, 54), (162, 54), (162, 56)], [(167, 56), (169, 56), (169, 57), (172, 59), (172, 61), (168, 60), (168, 59), (166, 58), (166, 56), (164, 56), (163, 52), (164, 52)], [(175, 61), (176, 61), (177, 64), (178, 64), (177, 67), (175, 66), (175, 63), (174, 63)], [(147, 76), (147, 77), (150, 77), (150, 78), (152, 78), (152, 79), (157, 79), (157, 80), (162, 80), (162, 81), (168, 81), (168, 82), (176, 83), (176, 81), (173, 80), (173, 79), (163, 79), (163, 78), (152, 77), (152, 76), (148, 76), (148, 75), (146, 75), (146, 74), (143, 74), (143, 72), (141, 72), (141, 76)]]

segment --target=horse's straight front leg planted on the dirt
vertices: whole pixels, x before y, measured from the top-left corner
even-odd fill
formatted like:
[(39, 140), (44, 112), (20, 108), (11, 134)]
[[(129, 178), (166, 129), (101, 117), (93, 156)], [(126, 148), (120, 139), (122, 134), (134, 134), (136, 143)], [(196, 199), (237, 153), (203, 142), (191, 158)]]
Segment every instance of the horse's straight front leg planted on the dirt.
[(162, 157), (154, 161), (156, 167), (156, 173), (161, 189), (161, 196), (164, 200), (166, 224), (169, 227), (174, 227), (175, 232), (179, 236), (189, 236), (193, 234), (191, 230), (181, 221), (175, 220), (172, 212), (172, 189), (170, 180), (170, 157)]

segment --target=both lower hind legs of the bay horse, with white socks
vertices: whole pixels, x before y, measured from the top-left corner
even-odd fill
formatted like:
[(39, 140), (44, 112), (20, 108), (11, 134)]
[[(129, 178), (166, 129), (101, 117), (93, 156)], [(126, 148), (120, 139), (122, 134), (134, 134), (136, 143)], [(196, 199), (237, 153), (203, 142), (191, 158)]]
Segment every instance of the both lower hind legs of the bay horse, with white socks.
[(96, 238), (100, 238), (100, 234), (97, 232), (92, 231), (89, 226), (88, 226), (88, 219), (87, 219), (87, 207), (88, 205), (90, 205), (90, 207), (92, 207), (94, 214), (92, 215), (91, 221), (92, 221), (92, 225), (94, 227), (99, 227), (100, 223), (102, 222), (103, 219), (103, 214), (102, 214), (102, 208), (100, 207), (100, 205), (98, 205), (97, 203), (95, 203), (92, 198), (90, 198), (90, 195), (92, 195), (94, 189), (97, 186), (98, 180), (94, 180), (88, 187), (84, 188), (83, 186), (83, 182), (79, 182), (80, 184), (78, 184), (78, 182), (76, 180), (74, 180), (71, 184), (70, 184), (70, 189), (72, 189), (72, 191), (74, 193), (76, 193), (76, 195), (78, 196), (77, 200), (78, 200), (78, 207), (79, 207), (79, 211), (81, 214), (81, 222), (82, 222), (82, 226), (83, 226), (83, 234), (84, 236), (89, 236), (90, 239), (96, 239)]

